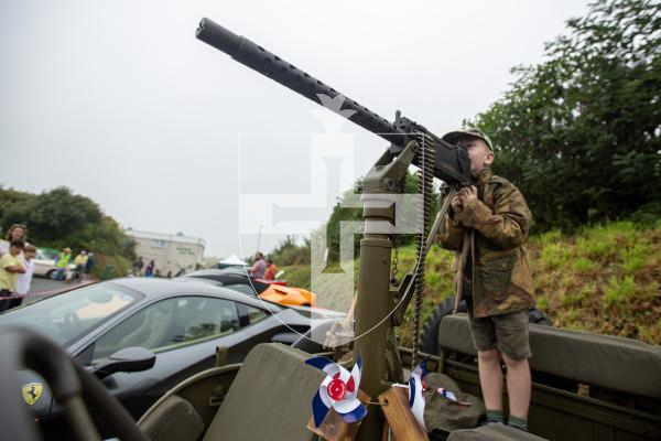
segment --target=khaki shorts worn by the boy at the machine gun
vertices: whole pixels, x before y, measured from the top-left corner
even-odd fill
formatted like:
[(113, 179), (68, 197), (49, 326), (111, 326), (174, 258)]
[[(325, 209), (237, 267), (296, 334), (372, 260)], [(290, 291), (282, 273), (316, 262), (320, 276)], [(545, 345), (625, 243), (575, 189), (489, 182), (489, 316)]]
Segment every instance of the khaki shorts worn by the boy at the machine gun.
[(475, 319), (472, 310), (469, 306), (470, 336), (477, 351), (497, 347), (513, 359), (532, 356), (528, 342), (528, 310), (480, 319)]

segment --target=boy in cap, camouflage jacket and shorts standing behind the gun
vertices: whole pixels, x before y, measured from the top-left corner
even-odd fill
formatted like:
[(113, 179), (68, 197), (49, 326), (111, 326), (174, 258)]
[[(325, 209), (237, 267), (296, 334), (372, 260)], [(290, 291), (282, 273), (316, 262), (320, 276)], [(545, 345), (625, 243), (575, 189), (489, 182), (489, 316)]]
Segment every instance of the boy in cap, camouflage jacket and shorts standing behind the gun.
[(503, 422), (502, 370), (507, 366), (508, 426), (528, 430), (531, 378), (528, 310), (534, 305), (532, 276), (523, 246), (532, 214), (521, 192), (491, 172), (494, 148), (479, 129), (446, 133), (443, 140), (468, 151), (475, 186), (462, 189), (440, 234), (441, 246), (456, 251), (455, 310), (466, 299), (477, 349), (487, 422)]

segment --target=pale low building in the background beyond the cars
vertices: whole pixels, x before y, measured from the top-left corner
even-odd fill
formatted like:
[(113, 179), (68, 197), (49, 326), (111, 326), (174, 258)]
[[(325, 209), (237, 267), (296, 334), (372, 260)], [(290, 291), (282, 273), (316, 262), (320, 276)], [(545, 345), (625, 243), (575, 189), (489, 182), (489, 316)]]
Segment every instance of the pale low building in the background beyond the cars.
[(205, 241), (199, 237), (134, 229), (127, 229), (126, 233), (136, 241), (136, 256), (142, 256), (144, 266), (153, 260), (155, 269), (163, 277), (167, 277), (167, 273), (175, 276), (182, 270), (189, 272), (196, 266), (204, 265)]

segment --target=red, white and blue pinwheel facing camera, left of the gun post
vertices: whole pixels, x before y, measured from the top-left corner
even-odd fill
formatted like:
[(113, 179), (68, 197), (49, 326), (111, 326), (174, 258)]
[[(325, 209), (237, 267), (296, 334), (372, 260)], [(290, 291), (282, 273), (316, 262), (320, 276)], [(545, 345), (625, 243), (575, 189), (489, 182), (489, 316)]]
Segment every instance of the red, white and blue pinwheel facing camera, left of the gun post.
[(350, 373), (326, 357), (310, 358), (305, 363), (326, 373), (326, 378), (312, 399), (315, 427), (318, 428), (322, 424), (330, 408), (335, 409), (349, 423), (365, 418), (367, 408), (358, 399), (360, 369), (362, 368), (360, 355)]

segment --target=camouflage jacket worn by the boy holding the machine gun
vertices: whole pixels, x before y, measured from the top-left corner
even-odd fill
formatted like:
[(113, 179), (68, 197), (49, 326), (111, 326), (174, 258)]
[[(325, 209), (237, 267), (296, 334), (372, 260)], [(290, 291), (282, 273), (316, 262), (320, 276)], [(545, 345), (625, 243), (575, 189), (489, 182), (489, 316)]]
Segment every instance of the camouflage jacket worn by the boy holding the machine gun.
[[(453, 263), (455, 309), (463, 295), (466, 256), (473, 273), (473, 313), (476, 318), (507, 314), (531, 308), (532, 275), (523, 243), (532, 214), (521, 192), (503, 178), (484, 169), (477, 200), (464, 206), (458, 223), (452, 208), (440, 233), (441, 246), (456, 251)], [(469, 252), (470, 251), (470, 252)]]

